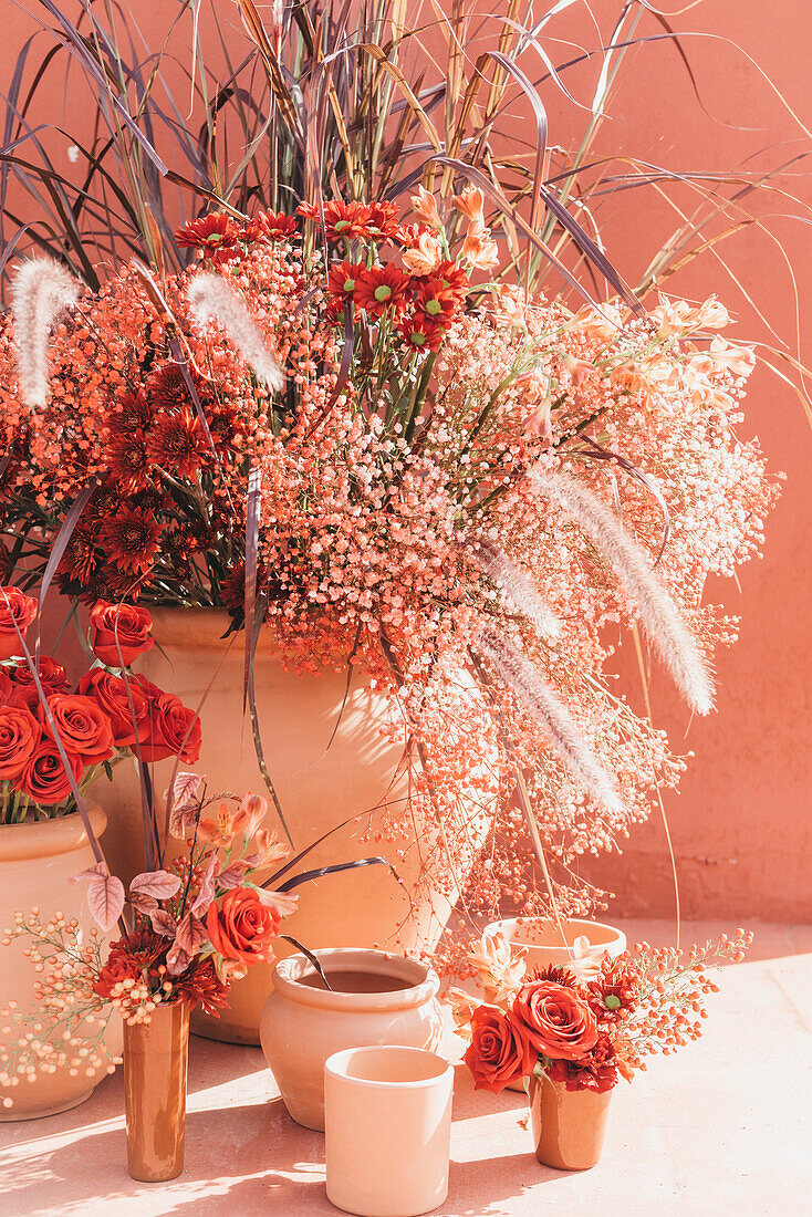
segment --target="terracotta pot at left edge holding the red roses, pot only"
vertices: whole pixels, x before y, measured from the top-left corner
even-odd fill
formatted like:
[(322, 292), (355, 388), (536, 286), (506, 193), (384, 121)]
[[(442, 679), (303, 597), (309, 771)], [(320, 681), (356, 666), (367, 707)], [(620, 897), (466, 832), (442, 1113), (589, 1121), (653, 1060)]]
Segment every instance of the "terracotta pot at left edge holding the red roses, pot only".
[[(107, 823), (105, 813), (91, 804), (89, 815), (96, 839), (100, 839)], [(86, 941), (95, 925), (88, 908), (86, 887), (71, 880), (94, 862), (78, 812), (32, 824), (0, 825), (0, 930), (12, 924), (15, 912), (28, 913), (37, 907), (44, 920), (55, 913), (63, 913), (68, 920), (75, 918), (82, 941)], [(11, 946), (0, 947), (0, 1006), (16, 1002), (18, 1013), (23, 1015), (39, 1009), (33, 986), (41, 980), (30, 959), (23, 954), (26, 946), (27, 940), (19, 937), (12, 940)], [(16, 1032), (16, 1037), (21, 1033)], [(86, 1033), (88, 1039), (95, 1042), (99, 1025), (86, 1027)], [(110, 1055), (121, 1051), (121, 1019), (114, 1015), (105, 1034)], [(0, 1034), (0, 1038), (5, 1036)], [(33, 1083), (0, 1088), (0, 1099), (7, 1097), (12, 1100), (11, 1107), (0, 1107), (0, 1121), (32, 1120), (67, 1111), (89, 1099), (106, 1076), (103, 1069), (93, 1078), (84, 1071), (78, 1077), (71, 1077), (68, 1071), (69, 1065), (66, 1064), (57, 1066), (54, 1073), (37, 1073)]]

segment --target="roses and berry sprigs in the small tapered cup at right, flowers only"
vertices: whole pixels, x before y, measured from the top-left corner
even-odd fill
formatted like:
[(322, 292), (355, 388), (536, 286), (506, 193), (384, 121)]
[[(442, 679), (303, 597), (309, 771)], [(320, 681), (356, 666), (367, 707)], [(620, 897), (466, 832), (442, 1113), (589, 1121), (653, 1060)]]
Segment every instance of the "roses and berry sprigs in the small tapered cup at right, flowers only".
[(618, 958), (573, 958), (572, 966), (526, 971), (520, 953), (500, 936), (470, 957), (492, 1000), (450, 991), (458, 1033), (470, 1039), (465, 1064), (476, 1089), (499, 1093), (525, 1078), (547, 1077), (567, 1092), (604, 1093), (631, 1081), (644, 1058), (665, 1055), (696, 1039), (718, 992), (707, 969), (738, 963), (752, 935), (694, 946), (687, 957), (638, 943)]

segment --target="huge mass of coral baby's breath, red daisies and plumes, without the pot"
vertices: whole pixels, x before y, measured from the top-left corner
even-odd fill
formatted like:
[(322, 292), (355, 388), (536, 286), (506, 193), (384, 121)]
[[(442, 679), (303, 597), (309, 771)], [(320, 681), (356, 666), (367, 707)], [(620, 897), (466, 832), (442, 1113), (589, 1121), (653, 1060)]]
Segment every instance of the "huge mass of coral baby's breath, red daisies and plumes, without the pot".
[[(682, 769), (610, 691), (605, 627), (642, 627), (707, 712), (730, 624), (705, 581), (757, 548), (775, 497), (734, 433), (754, 355), (717, 332), (724, 308), (643, 315), (620, 281), (577, 310), (530, 298), (491, 277), (489, 206), (460, 185), (441, 214), (420, 189), (410, 224), (321, 201), (301, 235), (279, 213), (209, 214), (181, 231), (198, 259), (177, 276), (135, 265), (91, 292), (23, 268), (0, 333), (6, 511), (30, 570), (61, 535), (71, 595), (228, 607), (261, 742), (261, 623), (296, 671), (342, 667), (346, 689), (365, 672), (405, 793), (373, 815), (355, 801), (349, 831), (382, 842), (422, 929), (463, 888), (492, 918), (600, 903), (579, 856)], [(50, 342), (26, 329), (38, 292), (65, 305)], [(34, 471), (44, 532), (27, 531)], [(264, 762), (284, 819), (284, 758)], [(315, 941), (337, 929), (320, 907)], [(365, 913), (380, 940), (409, 909)]]

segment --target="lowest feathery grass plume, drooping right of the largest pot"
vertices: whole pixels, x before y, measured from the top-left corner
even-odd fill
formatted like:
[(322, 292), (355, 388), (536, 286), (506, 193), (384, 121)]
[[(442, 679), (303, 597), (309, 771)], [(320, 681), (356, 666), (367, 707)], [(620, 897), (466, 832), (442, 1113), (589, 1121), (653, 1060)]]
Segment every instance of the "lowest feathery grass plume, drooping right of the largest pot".
[(493, 667), (504, 684), (513, 689), (545, 731), (551, 747), (572, 776), (607, 812), (620, 814), (623, 803), (615, 784), (587, 747), (578, 725), (534, 666), (514, 646), (492, 630), (486, 630), (476, 650)]

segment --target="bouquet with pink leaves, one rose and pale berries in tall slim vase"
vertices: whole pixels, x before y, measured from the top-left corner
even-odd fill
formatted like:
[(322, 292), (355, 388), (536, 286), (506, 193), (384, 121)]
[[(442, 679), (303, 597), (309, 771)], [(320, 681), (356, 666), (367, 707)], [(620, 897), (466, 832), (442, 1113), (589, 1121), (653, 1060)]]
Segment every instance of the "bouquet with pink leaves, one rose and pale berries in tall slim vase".
[[(158, 1006), (177, 1002), (217, 1014), (233, 980), (274, 958), (282, 918), (297, 903), (290, 891), (302, 876), (281, 882), (281, 891), (271, 888), (287, 867), (259, 881), (259, 870), (267, 874), (290, 852), (263, 826), (267, 800), (209, 797), (205, 778), (181, 773), (170, 808), (172, 835), (185, 848), (166, 868), (136, 875), (127, 891), (103, 862), (77, 876), (88, 882), (99, 925), (86, 941), (75, 919), (57, 912), (43, 920), (38, 908), (15, 913), (5, 929), (2, 944), (26, 938), (43, 978), (34, 1016), (0, 1011), (6, 1034), (13, 1025), (24, 1032), (13, 1045), (0, 1045), (1, 1086), (66, 1066), (90, 1077), (112, 1072), (121, 1059), (108, 1055), (103, 1037), (114, 1010), (129, 1025), (149, 1022)], [(116, 922), (122, 933), (111, 943), (105, 936)], [(95, 1037), (88, 1034), (94, 1025)]]

